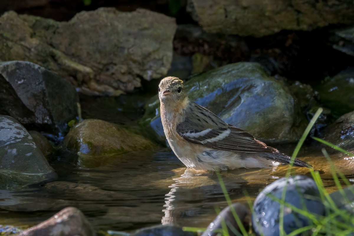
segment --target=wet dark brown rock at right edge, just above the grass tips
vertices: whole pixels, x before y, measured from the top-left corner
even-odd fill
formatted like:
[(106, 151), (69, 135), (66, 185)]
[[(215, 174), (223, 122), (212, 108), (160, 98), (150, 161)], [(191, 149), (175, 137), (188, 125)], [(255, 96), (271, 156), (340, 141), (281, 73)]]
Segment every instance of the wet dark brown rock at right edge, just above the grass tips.
[(324, 128), (322, 138), (354, 154), (354, 111)]

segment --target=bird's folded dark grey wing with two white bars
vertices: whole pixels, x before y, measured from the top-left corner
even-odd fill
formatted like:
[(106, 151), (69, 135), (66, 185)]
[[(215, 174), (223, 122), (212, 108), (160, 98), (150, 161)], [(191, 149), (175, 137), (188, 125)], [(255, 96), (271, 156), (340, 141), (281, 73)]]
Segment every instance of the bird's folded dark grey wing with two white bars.
[(275, 152), (251, 134), (228, 125), (211, 111), (192, 103), (185, 111), (185, 120), (177, 125), (177, 133), (190, 143), (237, 152)]

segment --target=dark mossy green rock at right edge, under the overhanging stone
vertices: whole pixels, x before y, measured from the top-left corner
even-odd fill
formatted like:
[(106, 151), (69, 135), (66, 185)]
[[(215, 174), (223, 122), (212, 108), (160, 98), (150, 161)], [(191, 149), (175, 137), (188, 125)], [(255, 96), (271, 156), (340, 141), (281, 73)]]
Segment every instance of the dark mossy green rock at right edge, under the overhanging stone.
[(342, 71), (336, 76), (327, 77), (316, 90), (320, 102), (329, 108), (333, 115), (341, 116), (354, 110), (354, 68)]

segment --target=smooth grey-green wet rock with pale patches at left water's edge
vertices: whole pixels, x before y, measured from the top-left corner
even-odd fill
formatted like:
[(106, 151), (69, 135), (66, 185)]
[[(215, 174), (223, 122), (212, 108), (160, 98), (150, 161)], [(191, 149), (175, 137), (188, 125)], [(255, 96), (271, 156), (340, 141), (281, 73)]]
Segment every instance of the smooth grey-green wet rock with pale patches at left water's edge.
[(0, 115), (0, 183), (35, 184), (57, 177), (27, 130)]

